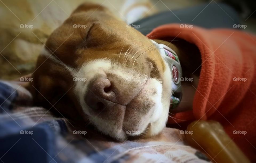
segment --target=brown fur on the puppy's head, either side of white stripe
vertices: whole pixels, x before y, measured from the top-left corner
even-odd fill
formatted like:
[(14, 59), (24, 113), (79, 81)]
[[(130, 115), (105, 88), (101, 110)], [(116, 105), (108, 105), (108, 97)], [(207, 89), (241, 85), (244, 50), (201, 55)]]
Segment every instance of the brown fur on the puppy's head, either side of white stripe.
[[(46, 50), (61, 62), (79, 69), (83, 64), (94, 59), (107, 58), (128, 68), (133, 67), (148, 76), (162, 78), (161, 75), (165, 70), (163, 60), (160, 55), (156, 55), (157, 50), (151, 46), (149, 39), (137, 30), (127, 28), (124, 22), (116, 19), (105, 7), (85, 3), (71, 14), (71, 18), (58, 27), (46, 42)], [(87, 27), (73, 28), (73, 24)], [(121, 49), (122, 55), (119, 57)], [(128, 49), (133, 50), (127, 58), (123, 57)], [(132, 59), (131, 54), (138, 50), (140, 51)], [(136, 62), (134, 62), (135, 58), (137, 58)], [(70, 118), (86, 116), (74, 96), (73, 77), (61, 65), (40, 55), (32, 77), (34, 80), (30, 90), (36, 105), (52, 108), (57, 102), (53, 110), (57, 109), (64, 116)], [(64, 97), (61, 98), (62, 96)]]

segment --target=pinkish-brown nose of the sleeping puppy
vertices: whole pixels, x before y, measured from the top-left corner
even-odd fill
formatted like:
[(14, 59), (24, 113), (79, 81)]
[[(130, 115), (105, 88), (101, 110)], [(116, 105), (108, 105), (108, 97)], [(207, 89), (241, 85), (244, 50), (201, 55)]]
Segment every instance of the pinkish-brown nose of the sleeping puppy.
[(113, 86), (110, 80), (104, 77), (96, 78), (88, 86), (88, 92), (85, 96), (85, 101), (93, 110), (102, 110), (105, 107), (111, 108), (116, 103), (116, 94), (113, 91)]

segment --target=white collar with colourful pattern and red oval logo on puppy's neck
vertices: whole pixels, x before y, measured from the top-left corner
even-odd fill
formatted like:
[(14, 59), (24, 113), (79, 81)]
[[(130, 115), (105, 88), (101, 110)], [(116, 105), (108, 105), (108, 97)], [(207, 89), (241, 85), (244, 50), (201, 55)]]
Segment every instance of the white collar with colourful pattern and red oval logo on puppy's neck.
[(169, 65), (169, 68), (172, 72), (173, 83), (171, 85), (172, 90), (174, 90), (173, 95), (171, 96), (170, 109), (174, 109), (179, 105), (179, 102), (182, 98), (181, 90), (181, 77), (182, 69), (181, 63), (179, 62), (178, 55), (174, 52), (173, 49), (169, 48), (164, 44), (158, 44), (157, 42), (151, 40), (154, 45), (158, 48), (163, 60)]

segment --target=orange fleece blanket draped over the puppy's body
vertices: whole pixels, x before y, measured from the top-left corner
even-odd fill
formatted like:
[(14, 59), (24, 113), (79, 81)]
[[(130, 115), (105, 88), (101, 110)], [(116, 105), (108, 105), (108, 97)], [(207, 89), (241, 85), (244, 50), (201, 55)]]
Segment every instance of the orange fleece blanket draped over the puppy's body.
[(167, 24), (155, 28), (147, 37), (181, 38), (195, 44), (201, 53), (193, 111), (177, 113), (168, 123), (219, 121), (233, 141), (255, 161), (256, 36), (231, 29), (180, 28), (179, 24)]

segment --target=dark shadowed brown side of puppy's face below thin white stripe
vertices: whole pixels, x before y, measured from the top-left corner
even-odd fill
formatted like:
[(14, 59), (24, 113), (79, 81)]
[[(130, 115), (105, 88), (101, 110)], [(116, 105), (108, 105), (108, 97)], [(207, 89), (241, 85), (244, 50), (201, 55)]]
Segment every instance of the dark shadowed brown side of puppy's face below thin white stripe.
[[(61, 114), (64, 117), (79, 117), (78, 101), (74, 98), (73, 77), (61, 65), (55, 64), (51, 59), (40, 55), (36, 70), (32, 74), (33, 81), (29, 91), (33, 97), (34, 106)], [(79, 118), (78, 118), (79, 119)]]

